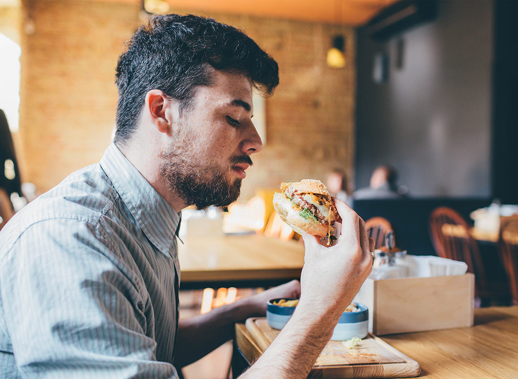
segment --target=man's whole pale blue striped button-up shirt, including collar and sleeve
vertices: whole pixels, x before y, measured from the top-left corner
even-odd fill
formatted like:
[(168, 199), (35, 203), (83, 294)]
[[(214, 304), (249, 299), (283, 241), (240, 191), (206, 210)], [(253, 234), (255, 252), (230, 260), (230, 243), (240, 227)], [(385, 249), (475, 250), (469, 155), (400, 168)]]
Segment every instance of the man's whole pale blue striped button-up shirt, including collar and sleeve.
[(111, 144), (0, 232), (0, 377), (177, 377), (180, 215)]

